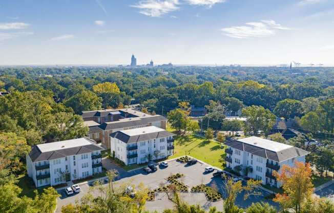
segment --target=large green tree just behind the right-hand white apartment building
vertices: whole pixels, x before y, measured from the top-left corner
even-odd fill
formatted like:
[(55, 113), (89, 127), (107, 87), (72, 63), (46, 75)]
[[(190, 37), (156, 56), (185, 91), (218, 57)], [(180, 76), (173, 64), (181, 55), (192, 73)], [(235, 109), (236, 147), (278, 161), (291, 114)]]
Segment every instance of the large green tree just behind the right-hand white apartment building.
[(262, 106), (252, 105), (242, 109), (242, 115), (247, 118), (245, 122), (245, 130), (257, 134), (263, 131), (268, 135), (276, 122), (276, 116)]

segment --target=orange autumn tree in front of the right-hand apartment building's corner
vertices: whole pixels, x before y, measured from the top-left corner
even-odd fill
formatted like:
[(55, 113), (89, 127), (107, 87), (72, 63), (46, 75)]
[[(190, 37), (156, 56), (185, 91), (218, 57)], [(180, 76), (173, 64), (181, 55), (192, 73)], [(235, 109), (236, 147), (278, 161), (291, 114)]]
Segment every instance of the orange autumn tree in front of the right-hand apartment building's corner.
[(296, 161), (295, 166), (283, 165), (280, 174), (276, 171), (273, 174), (283, 187), (283, 194), (277, 194), (274, 201), (280, 203), (283, 210), (293, 208), (300, 213), (314, 189), (310, 164)]

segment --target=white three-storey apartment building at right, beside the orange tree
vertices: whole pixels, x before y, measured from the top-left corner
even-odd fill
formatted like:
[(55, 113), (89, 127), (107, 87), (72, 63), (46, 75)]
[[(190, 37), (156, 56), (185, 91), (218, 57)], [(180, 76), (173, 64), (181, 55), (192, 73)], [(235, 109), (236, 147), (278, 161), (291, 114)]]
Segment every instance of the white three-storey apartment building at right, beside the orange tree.
[[(304, 162), (309, 152), (284, 143), (259, 138), (247, 137), (226, 143), (226, 166), (236, 170), (241, 167), (241, 174), (262, 184), (280, 187), (273, 176), (273, 171), (280, 173), (282, 165), (294, 166), (295, 161)], [(245, 173), (245, 169), (248, 171)]]

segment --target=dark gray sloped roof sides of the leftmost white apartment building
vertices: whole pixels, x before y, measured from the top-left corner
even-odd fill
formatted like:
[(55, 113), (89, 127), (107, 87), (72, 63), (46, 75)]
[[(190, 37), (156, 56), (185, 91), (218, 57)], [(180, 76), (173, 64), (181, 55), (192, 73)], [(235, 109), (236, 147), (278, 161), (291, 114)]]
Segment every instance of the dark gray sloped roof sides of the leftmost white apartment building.
[[(55, 142), (57, 143), (57, 142)], [(70, 147), (70, 148), (64, 148), (61, 150), (55, 150), (55, 151), (49, 151), (49, 152), (42, 152), (38, 145), (34, 145), (31, 148), (31, 151), (29, 153), (29, 156), (33, 162), (37, 161), (44, 161), (44, 160), (53, 160), (57, 158), (64, 158), (66, 156), (71, 155), (80, 155), (85, 153), (91, 153), (94, 151), (101, 151), (104, 150), (101, 146), (98, 146), (96, 144), (86, 144), (82, 146), (76, 146), (76, 147)]]

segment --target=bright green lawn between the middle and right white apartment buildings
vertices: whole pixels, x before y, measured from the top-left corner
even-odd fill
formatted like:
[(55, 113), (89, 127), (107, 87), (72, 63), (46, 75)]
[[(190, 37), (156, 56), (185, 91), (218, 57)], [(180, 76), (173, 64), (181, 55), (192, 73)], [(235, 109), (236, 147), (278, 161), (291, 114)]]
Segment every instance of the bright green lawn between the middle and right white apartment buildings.
[(223, 168), (225, 152), (220, 147), (220, 143), (213, 140), (209, 142), (195, 135), (177, 135), (174, 138), (174, 155), (170, 156), (170, 159), (189, 155), (213, 166)]

